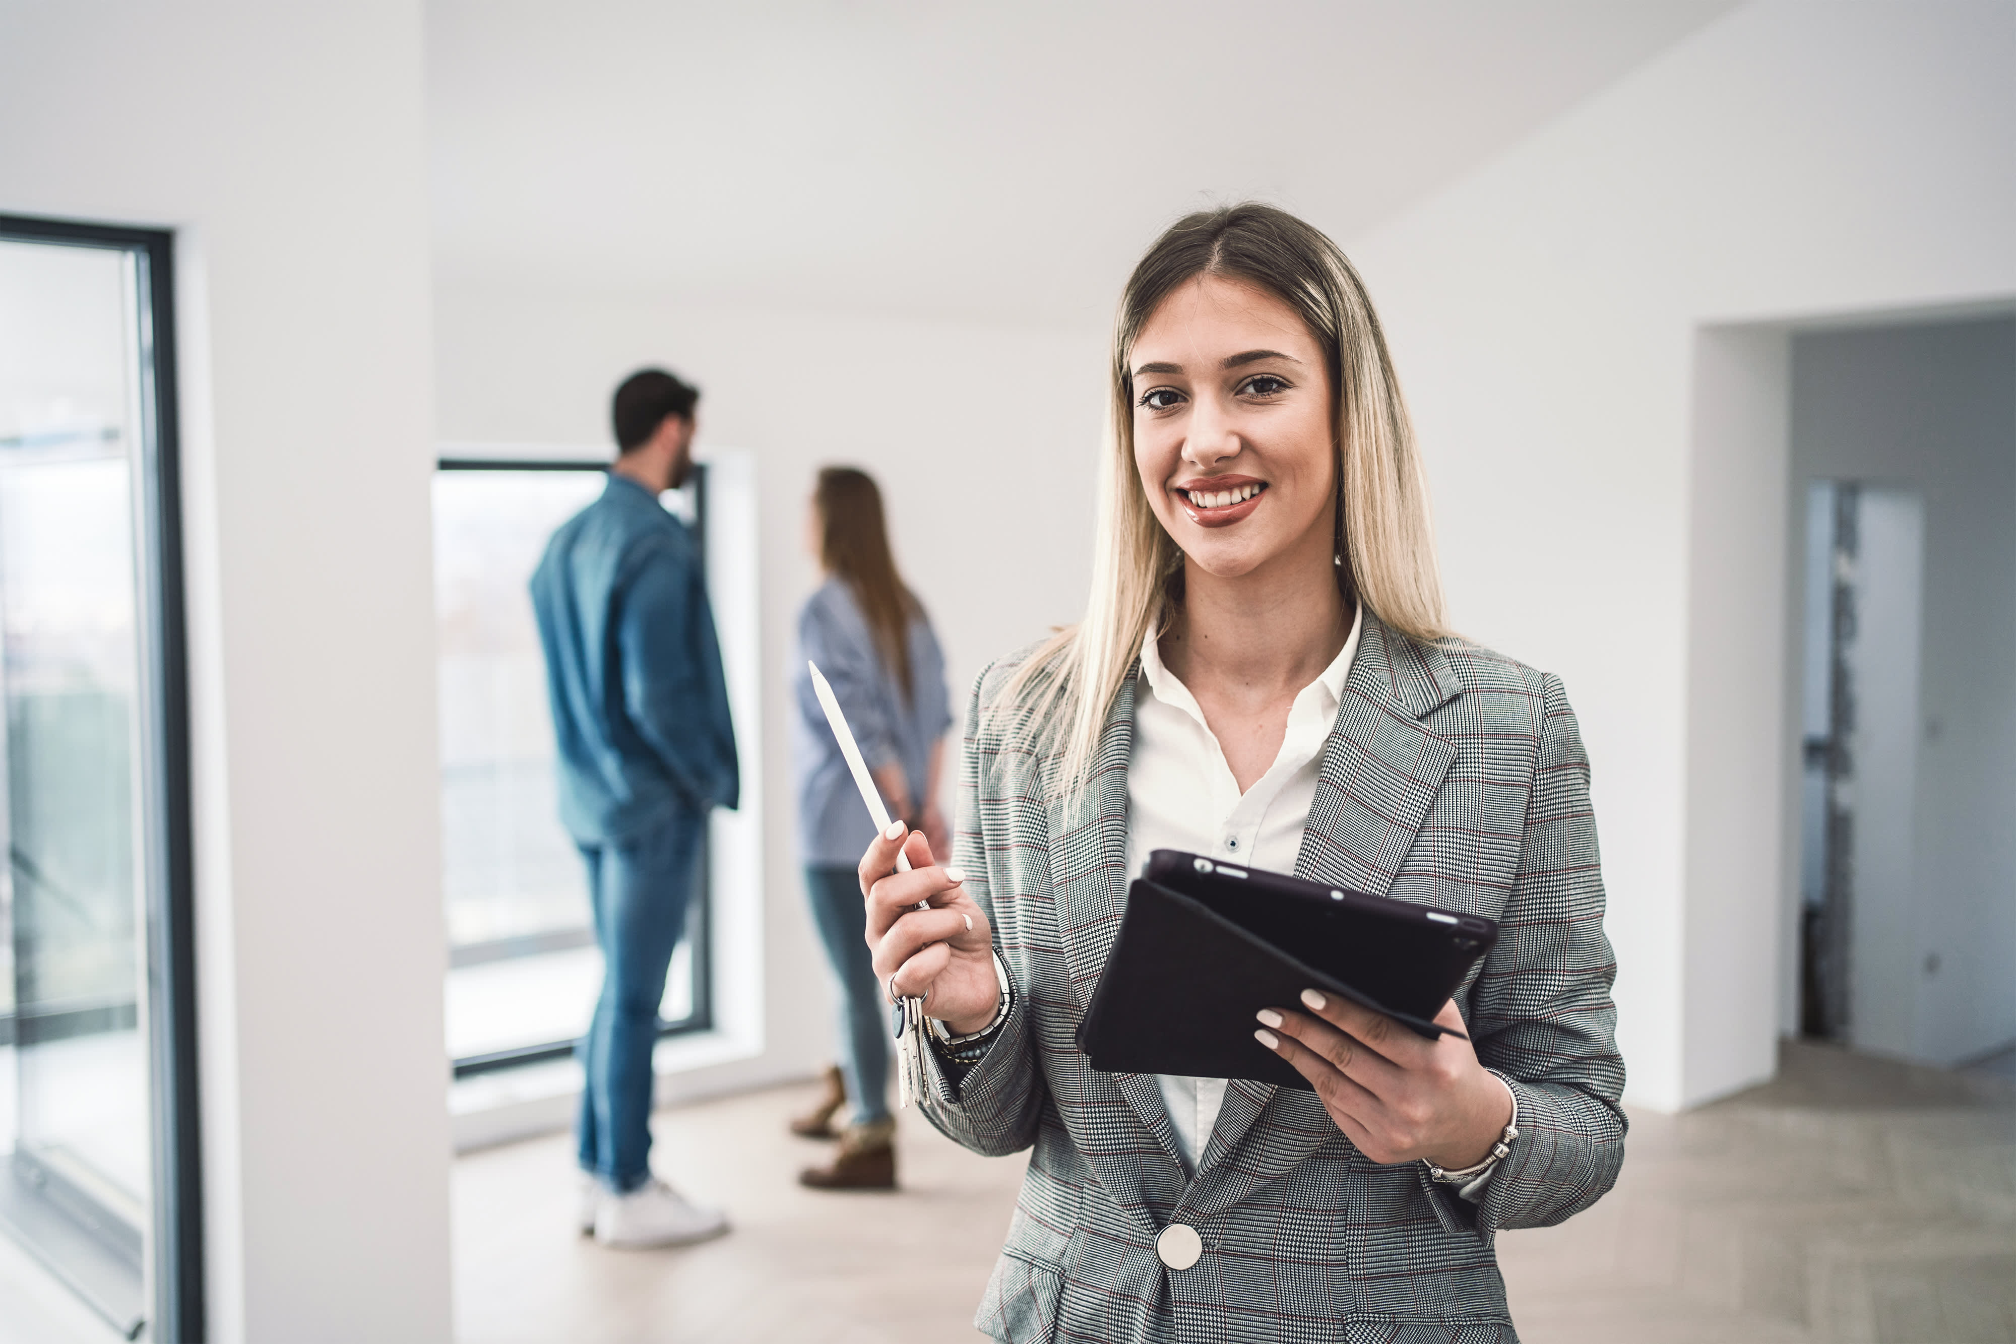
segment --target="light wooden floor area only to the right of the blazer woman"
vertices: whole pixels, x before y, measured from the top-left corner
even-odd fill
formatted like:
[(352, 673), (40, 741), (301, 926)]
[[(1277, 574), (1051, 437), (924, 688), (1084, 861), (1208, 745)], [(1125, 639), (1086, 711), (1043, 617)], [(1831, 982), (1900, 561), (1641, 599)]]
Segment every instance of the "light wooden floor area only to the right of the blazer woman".
[(1635, 1112), (1595, 1209), (1512, 1233), (1548, 1340), (2016, 1340), (2016, 1086), (1786, 1046), (1780, 1078)]

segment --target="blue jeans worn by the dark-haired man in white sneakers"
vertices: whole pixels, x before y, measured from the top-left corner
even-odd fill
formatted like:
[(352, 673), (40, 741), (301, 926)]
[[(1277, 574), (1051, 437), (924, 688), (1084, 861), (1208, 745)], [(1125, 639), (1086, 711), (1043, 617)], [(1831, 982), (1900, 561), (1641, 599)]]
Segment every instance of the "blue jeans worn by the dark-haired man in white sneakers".
[(671, 949), (685, 933), (706, 816), (679, 812), (609, 844), (583, 844), (603, 995), (575, 1046), (581, 1088), (581, 1169), (617, 1193), (651, 1179), (651, 1048)]

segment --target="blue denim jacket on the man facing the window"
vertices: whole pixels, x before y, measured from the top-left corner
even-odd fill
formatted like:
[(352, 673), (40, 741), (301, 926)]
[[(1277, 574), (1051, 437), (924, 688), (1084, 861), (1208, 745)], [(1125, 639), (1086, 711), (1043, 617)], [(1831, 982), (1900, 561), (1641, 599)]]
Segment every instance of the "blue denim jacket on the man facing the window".
[(558, 746), (560, 822), (623, 840), (673, 810), (734, 808), (736, 731), (700, 554), (651, 492), (611, 474), (532, 572)]

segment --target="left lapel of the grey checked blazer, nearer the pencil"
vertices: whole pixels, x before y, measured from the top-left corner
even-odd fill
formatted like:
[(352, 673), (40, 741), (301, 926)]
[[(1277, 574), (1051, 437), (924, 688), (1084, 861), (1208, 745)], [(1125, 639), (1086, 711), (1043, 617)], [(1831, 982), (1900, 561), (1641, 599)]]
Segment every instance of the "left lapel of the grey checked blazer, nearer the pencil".
[[(1133, 758), (1135, 673), (1099, 731), (1093, 778), (1083, 790), (1050, 800), (1050, 889), (1056, 893), (1064, 963), (1070, 967), (1070, 995), (1079, 1018), (1093, 1001), (1099, 975), (1107, 967), (1127, 913), (1127, 762)], [(1169, 1108), (1161, 1086), (1147, 1074), (1109, 1074), (1129, 1108), (1155, 1134), (1163, 1153), (1181, 1171)], [(1173, 1193), (1173, 1191), (1171, 1191)]]

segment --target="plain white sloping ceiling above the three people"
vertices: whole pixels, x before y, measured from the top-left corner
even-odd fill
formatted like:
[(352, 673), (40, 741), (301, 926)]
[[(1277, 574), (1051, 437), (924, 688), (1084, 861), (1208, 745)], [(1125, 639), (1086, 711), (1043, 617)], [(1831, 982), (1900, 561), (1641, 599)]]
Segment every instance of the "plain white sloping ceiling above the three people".
[(1736, 0), (429, 0), (450, 284), (1103, 328), (1183, 210), (1343, 242)]

